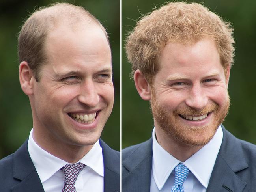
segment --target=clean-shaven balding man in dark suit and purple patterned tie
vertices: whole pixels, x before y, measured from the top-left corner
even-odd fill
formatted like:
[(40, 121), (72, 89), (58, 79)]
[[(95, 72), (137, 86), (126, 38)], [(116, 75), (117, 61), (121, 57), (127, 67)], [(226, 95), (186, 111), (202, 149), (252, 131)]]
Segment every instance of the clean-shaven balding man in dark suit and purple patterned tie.
[(120, 153), (99, 139), (114, 102), (105, 28), (83, 7), (40, 8), (19, 33), (19, 62), (33, 129), (0, 160), (0, 191), (120, 191)]

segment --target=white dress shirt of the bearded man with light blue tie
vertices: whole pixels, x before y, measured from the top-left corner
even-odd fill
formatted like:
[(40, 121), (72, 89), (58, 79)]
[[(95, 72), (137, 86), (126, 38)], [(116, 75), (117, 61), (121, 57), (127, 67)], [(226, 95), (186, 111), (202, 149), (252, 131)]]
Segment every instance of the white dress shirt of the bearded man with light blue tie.
[[(170, 192), (175, 180), (174, 168), (181, 161), (159, 145), (155, 137), (155, 128), (153, 129), (152, 138), (153, 160), (150, 192)], [(221, 126), (219, 126), (212, 140), (183, 162), (190, 170), (187, 179), (183, 183), (185, 192), (206, 192), (222, 138), (223, 132)]]

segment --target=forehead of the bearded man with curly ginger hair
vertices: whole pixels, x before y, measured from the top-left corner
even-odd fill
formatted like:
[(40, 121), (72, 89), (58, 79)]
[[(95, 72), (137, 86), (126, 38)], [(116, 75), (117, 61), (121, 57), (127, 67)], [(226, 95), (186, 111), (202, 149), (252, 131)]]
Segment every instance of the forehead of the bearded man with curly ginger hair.
[[(191, 44), (167, 43), (159, 56), (160, 73), (206, 73), (223, 69), (214, 41), (202, 39)], [(158, 73), (157, 72), (157, 73)]]

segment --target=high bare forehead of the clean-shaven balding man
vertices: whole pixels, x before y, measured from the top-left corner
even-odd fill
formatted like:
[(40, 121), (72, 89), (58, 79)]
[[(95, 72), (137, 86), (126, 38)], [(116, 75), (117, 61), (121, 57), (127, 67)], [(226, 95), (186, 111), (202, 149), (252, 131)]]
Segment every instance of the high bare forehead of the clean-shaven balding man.
[(45, 52), (49, 63), (58, 67), (76, 64), (111, 67), (110, 47), (97, 24), (75, 29), (63, 25), (54, 29), (47, 36)]

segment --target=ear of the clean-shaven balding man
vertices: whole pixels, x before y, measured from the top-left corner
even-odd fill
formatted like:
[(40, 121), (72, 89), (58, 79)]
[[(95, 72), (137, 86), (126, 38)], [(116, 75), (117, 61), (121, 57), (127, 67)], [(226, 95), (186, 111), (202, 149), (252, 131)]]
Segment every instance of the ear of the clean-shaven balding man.
[(26, 95), (33, 94), (33, 83), (34, 76), (32, 74), (32, 70), (28, 66), (28, 63), (23, 61), (19, 66), (19, 80), (21, 84), (21, 89)]

